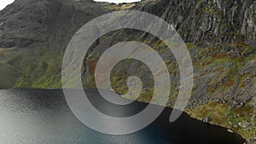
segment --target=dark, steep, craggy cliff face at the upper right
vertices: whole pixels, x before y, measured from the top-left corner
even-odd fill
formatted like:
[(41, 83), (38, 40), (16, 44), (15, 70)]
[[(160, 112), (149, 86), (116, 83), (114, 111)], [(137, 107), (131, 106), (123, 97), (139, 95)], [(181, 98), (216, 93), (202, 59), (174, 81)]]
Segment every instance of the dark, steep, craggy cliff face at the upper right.
[(167, 20), (187, 43), (211, 46), (247, 39), (253, 45), (255, 32), (245, 26), (256, 19), (254, 5), (252, 0), (161, 0), (144, 1), (138, 9)]

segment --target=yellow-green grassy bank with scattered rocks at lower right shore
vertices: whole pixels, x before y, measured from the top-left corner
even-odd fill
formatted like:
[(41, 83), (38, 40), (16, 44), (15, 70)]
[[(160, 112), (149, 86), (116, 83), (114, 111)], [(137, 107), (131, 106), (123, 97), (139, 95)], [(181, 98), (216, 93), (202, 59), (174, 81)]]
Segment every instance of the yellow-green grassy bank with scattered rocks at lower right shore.
[(187, 109), (186, 112), (188, 112), (192, 118), (211, 118), (208, 123), (221, 125), (236, 131), (247, 140), (255, 136), (254, 132), (256, 131), (256, 127), (253, 125), (256, 124), (256, 118), (254, 118), (255, 113), (253, 115), (253, 107), (251, 107), (250, 104), (233, 110), (230, 109), (226, 103), (209, 101), (206, 105)]

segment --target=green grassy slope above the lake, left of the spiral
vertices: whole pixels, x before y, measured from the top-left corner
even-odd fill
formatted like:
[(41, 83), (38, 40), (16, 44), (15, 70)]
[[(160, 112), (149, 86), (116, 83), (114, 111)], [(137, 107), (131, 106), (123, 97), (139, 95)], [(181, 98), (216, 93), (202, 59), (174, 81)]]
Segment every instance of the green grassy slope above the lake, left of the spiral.
[[(42, 48), (2, 49), (3, 88), (61, 88), (61, 60), (58, 50)], [(32, 55), (32, 56), (31, 56)]]

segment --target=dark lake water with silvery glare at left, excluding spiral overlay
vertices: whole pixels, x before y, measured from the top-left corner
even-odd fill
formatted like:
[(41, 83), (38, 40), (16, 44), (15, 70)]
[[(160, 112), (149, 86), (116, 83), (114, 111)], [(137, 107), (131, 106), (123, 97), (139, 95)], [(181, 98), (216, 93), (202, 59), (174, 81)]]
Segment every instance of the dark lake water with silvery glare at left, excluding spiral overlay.
[[(105, 106), (93, 89), (87, 95), (96, 106)], [(118, 114), (105, 108), (102, 112), (129, 115), (146, 106), (135, 102), (131, 107), (119, 108)], [(170, 123), (171, 112), (171, 108), (165, 108), (153, 124), (136, 133), (104, 135), (79, 122), (61, 89), (0, 90), (0, 144), (241, 144), (244, 141), (239, 135), (189, 118), (185, 113)]]

